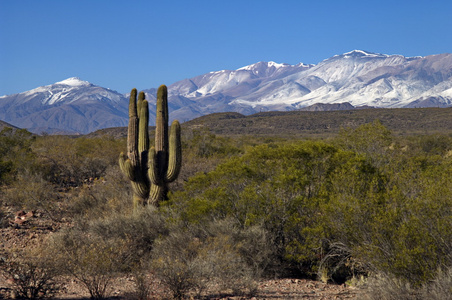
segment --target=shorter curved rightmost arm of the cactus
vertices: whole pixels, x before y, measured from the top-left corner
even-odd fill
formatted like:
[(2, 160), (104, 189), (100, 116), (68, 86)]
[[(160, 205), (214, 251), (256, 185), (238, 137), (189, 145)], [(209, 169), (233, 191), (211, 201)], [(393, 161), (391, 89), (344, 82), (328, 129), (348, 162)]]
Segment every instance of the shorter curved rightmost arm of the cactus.
[(171, 133), (169, 140), (169, 162), (166, 173), (166, 182), (173, 182), (179, 175), (182, 166), (182, 145), (180, 138), (179, 121), (174, 120), (171, 124)]

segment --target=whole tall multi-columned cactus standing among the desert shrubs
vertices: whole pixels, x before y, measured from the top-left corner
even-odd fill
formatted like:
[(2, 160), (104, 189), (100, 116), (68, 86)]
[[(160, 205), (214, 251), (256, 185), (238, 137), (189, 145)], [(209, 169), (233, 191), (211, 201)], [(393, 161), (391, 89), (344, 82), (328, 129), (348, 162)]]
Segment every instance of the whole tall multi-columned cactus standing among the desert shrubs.
[(171, 124), (168, 137), (168, 92), (165, 85), (157, 92), (155, 146), (149, 149), (149, 107), (143, 92), (130, 93), (127, 155), (119, 155), (119, 166), (132, 182), (134, 209), (158, 205), (167, 198), (168, 183), (179, 175), (182, 165), (180, 124)]

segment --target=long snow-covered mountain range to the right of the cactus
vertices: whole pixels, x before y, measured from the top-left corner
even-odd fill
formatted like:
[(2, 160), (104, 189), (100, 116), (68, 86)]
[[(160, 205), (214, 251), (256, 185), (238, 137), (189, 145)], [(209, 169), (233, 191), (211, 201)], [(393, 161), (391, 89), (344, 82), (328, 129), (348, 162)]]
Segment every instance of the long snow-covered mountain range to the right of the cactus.
[(170, 91), (195, 101), (198, 110), (203, 108), (201, 113), (213, 112), (212, 106), (216, 111), (252, 113), (342, 102), (375, 107), (450, 106), (451, 88), (451, 54), (404, 57), (354, 50), (317, 65), (261, 62), (236, 71), (212, 72), (177, 82)]

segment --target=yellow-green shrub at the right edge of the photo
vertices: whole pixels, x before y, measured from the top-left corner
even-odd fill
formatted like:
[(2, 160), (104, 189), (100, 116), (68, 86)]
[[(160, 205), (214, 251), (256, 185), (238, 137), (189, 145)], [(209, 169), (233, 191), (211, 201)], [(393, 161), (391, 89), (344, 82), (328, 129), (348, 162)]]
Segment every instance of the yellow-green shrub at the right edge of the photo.
[(447, 165), (420, 167), (415, 160), (406, 161), (384, 177), (383, 188), (365, 197), (350, 193), (356, 188), (353, 181), (353, 186), (340, 181), (325, 207), (330, 240), (346, 245), (368, 269), (405, 278), (413, 286), (430, 280), (438, 267), (452, 262)]

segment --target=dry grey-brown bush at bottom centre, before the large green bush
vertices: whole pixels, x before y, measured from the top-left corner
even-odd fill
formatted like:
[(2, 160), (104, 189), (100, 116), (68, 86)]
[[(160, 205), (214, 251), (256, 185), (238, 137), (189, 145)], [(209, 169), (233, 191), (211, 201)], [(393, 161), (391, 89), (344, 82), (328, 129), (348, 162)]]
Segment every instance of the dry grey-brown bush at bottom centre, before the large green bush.
[(258, 268), (250, 266), (241, 254), (245, 247), (237, 243), (234, 234), (203, 229), (173, 229), (169, 236), (154, 245), (151, 268), (173, 297), (183, 299), (190, 293), (201, 297), (207, 290), (209, 293), (228, 290), (234, 294), (254, 293)]

